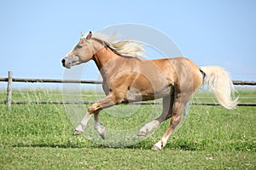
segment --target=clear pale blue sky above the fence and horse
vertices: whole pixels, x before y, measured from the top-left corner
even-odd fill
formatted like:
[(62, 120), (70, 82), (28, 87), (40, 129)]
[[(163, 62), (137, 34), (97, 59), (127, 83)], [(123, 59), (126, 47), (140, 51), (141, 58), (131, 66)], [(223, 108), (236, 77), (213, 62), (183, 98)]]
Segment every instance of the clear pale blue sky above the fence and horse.
[[(234, 80), (255, 81), (255, 16), (253, 0), (2, 0), (0, 77), (13, 71), (14, 77), (62, 78), (61, 58), (79, 31), (135, 23), (164, 32), (196, 65), (220, 65)], [(97, 75), (89, 65), (88, 74)]]

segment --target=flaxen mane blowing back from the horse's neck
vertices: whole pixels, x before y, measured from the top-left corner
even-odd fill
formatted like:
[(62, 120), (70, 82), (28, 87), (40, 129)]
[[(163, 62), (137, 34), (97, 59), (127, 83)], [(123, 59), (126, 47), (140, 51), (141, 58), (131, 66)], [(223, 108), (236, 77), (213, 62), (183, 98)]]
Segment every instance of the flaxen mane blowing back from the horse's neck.
[(92, 38), (108, 46), (115, 54), (128, 57), (142, 57), (145, 54), (143, 43), (136, 40), (118, 41), (119, 36), (116, 34), (108, 36), (99, 32), (93, 32)]

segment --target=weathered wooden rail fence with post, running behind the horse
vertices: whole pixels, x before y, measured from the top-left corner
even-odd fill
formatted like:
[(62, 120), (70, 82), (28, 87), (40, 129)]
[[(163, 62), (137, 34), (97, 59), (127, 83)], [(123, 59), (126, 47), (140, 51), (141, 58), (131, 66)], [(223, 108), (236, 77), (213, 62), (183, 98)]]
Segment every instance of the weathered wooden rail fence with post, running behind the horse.
[[(28, 103), (26, 101), (20, 101), (20, 102), (13, 102), (12, 101), (12, 82), (53, 82), (53, 83), (88, 83), (88, 84), (102, 84), (100, 81), (93, 81), (93, 80), (61, 80), (61, 79), (42, 79), (42, 78), (13, 78), (12, 71), (8, 72), (8, 77), (0, 77), (0, 82), (8, 82), (7, 85), (7, 105), (9, 108), (9, 111), (11, 110), (12, 103), (15, 104), (25, 104)], [(234, 85), (249, 85), (249, 86), (255, 86), (256, 81), (232, 81)], [(77, 102), (65, 102), (65, 101), (52, 101), (52, 102), (35, 102), (40, 104), (90, 104), (91, 101), (77, 101)], [(152, 102), (137, 102), (135, 105), (148, 105), (148, 104), (155, 104)], [(192, 105), (218, 105), (215, 103), (191, 103)], [(241, 103), (238, 105), (249, 105), (249, 106), (256, 106), (256, 103)]]

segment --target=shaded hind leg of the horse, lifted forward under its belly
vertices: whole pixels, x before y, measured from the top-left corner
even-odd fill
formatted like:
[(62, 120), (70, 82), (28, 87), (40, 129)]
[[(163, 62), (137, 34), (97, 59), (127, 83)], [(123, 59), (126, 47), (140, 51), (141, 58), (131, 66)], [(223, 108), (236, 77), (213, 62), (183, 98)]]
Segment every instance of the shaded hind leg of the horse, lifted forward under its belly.
[(145, 124), (137, 134), (138, 136), (145, 136), (147, 135), (152, 129), (155, 127), (158, 127), (161, 122), (166, 121), (166, 119), (170, 118), (172, 116), (172, 106), (174, 102), (174, 96), (166, 96), (163, 98), (163, 111), (162, 114), (154, 119), (152, 122), (148, 122)]

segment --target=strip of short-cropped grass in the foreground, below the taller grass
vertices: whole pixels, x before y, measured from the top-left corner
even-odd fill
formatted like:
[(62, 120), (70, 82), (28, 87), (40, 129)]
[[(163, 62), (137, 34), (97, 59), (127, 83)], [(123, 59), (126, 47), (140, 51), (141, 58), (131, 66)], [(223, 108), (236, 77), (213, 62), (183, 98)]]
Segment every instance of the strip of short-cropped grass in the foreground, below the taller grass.
[(245, 169), (254, 165), (253, 154), (241, 151), (190, 151), (14, 147), (4, 150), (12, 169)]

